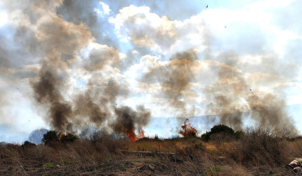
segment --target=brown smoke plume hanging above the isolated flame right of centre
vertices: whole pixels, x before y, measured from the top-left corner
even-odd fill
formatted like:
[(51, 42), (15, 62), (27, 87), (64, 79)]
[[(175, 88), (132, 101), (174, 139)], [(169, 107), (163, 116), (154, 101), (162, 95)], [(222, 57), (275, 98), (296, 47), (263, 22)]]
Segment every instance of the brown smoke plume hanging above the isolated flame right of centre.
[(187, 103), (184, 100), (194, 81), (196, 70), (199, 66), (195, 50), (188, 50), (176, 53), (167, 64), (149, 68), (149, 72), (143, 75), (143, 82), (156, 83), (161, 85), (161, 93), (169, 107), (173, 107), (178, 114), (177, 117), (194, 116), (193, 111), (187, 111)]

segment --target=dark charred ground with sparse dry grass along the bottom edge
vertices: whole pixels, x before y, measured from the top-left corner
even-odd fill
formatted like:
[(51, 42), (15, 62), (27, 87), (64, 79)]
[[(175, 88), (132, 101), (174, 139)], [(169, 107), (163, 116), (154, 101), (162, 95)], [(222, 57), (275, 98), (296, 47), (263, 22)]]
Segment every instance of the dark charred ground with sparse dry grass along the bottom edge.
[(54, 166), (50, 168), (44, 168), (39, 162), (27, 157), (21, 157), (19, 161), (2, 158), (0, 175), (297, 175), (282, 165), (278, 170), (270, 171), (265, 167), (232, 168), (230, 164), (217, 161), (217, 167), (220, 168), (209, 169), (198, 161), (175, 162), (167, 156), (125, 155), (123, 158), (106, 158), (94, 166), (72, 160), (65, 164), (57, 161), (53, 162)]

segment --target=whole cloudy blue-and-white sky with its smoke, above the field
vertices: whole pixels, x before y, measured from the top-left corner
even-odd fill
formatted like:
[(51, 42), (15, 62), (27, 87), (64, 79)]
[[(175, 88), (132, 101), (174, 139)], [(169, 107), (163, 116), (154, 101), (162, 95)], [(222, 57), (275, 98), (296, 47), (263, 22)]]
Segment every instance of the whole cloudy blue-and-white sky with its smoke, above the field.
[(300, 134), (301, 6), (3, 0), (0, 141), (89, 125), (164, 137), (183, 117), (199, 132), (259, 122)]

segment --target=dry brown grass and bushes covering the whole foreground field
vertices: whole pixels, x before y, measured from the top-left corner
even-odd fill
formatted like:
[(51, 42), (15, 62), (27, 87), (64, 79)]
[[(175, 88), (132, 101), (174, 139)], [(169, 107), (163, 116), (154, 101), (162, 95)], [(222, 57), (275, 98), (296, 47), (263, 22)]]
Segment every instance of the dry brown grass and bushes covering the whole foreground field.
[(0, 159), (8, 166), (0, 165), (0, 175), (296, 175), (284, 165), (302, 158), (302, 139), (289, 140), (286, 127), (234, 132), (215, 125), (203, 136), (131, 142), (104, 130), (87, 139), (51, 130), (43, 135), (46, 145), (3, 143)]

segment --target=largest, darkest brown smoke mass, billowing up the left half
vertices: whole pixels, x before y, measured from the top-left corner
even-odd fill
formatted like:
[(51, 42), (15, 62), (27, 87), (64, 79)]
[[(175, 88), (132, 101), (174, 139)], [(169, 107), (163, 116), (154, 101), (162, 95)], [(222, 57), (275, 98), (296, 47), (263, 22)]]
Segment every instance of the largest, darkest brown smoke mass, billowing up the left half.
[[(64, 5), (68, 4), (75, 6), (78, 3), (64, 2)], [(63, 93), (68, 93), (69, 86), (72, 86), (69, 83), (72, 70), (85, 70), (96, 74), (108, 67), (114, 69), (124, 56), (112, 47), (92, 44), (88, 58), (81, 60), (76, 57), (80, 49), (95, 40), (88, 26), (82, 22), (74, 24), (65, 21), (61, 15), (50, 13), (47, 9), (40, 10), (46, 15), (38, 16), (34, 20), (37, 23), (37, 31), (22, 27), (16, 38), (24, 41), (20, 38), (22, 34), (31, 34), (29, 42), (32, 46), (28, 49), (32, 48), (31, 51), (36, 52), (38, 48), (39, 52), (47, 55), (43, 57), (43, 64), (38, 72), (40, 77), (33, 80), (31, 86), (35, 101), (48, 109), (45, 121), (51, 128), (62, 132), (77, 132), (82, 127), (93, 124), (96, 128), (105, 127), (107, 130), (127, 134), (129, 129), (135, 130), (138, 126), (145, 126), (149, 122), (151, 112), (144, 106), (137, 106), (136, 110), (128, 106), (116, 107), (117, 98), (127, 97), (129, 90), (111, 76), (104, 78), (100, 87), (95, 86), (93, 78), (89, 79), (85, 92), (72, 93), (74, 98), (66, 99), (70, 94)], [(94, 22), (91, 22), (92, 26), (93, 24)], [(63, 60), (62, 54), (74, 55), (74, 61)], [(117, 116), (117, 119), (111, 122), (111, 126), (106, 127), (105, 123), (112, 121), (112, 116)], [(85, 130), (81, 135), (85, 136), (84, 133)], [(135, 136), (134, 132), (133, 134)]]

